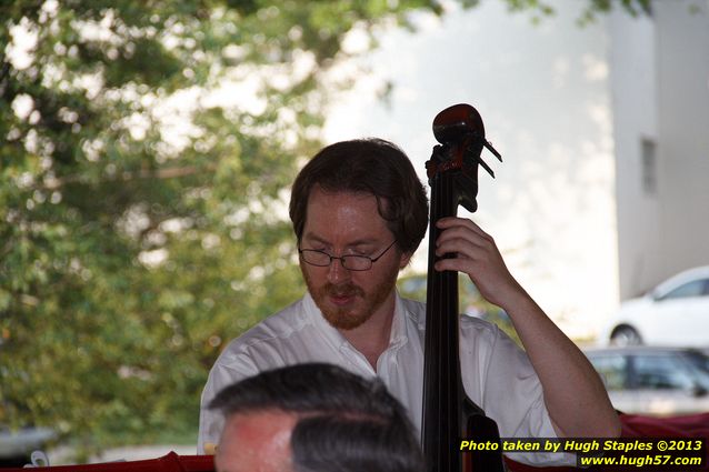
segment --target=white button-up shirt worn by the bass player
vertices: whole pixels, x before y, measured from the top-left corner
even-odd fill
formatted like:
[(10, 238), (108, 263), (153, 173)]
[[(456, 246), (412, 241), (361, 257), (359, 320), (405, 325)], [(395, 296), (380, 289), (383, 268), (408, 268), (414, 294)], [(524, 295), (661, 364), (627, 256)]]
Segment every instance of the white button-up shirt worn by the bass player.
[[(426, 305), (397, 294), (389, 347), (377, 371), (322, 317), (310, 294), (234, 339), (221, 353), (202, 392), (198, 453), (219, 442), (223, 419), (208, 409), (224, 386), (260, 371), (328, 362), (365, 378), (378, 375), (420, 431)], [(501, 438), (556, 438), (542, 389), (527, 355), (495, 324), (460, 320), (460, 365), (466, 393), (498, 423)], [(567, 454), (508, 454), (526, 463), (566, 463)]]

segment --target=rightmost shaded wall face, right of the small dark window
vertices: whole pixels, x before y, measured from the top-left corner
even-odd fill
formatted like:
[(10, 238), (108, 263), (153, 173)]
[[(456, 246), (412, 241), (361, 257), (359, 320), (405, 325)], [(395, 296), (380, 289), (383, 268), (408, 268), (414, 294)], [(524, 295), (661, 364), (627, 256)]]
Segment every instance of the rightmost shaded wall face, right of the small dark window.
[(709, 264), (709, 2), (656, 1), (666, 275)]

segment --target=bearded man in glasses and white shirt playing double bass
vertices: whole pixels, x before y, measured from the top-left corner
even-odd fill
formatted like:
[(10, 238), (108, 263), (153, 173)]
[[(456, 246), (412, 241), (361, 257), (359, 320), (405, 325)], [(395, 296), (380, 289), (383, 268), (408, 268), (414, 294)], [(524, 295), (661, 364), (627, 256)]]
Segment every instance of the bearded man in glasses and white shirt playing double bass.
[[(199, 453), (219, 440), (223, 420), (207, 405), (222, 388), (302, 362), (378, 375), (421, 428), (426, 308), (396, 290), (428, 224), (426, 191), (411, 162), (383, 140), (326, 147), (298, 174), (290, 218), (308, 292), (221, 353), (202, 393)], [(456, 257), (439, 260), (436, 270), (467, 273), (509, 314), (526, 350), (496, 325), (461, 317), (463, 388), (500, 436), (617, 436), (620, 423), (600, 378), (510, 274), (492, 238), (468, 219), (437, 225), (436, 253)], [(515, 459), (551, 464), (562, 454)]]

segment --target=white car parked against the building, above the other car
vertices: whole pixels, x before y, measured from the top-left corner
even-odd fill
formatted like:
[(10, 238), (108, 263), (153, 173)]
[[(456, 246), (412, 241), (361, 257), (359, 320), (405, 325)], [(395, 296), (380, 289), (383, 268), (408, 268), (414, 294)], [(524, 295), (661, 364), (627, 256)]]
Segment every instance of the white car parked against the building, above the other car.
[(709, 265), (681, 272), (623, 302), (601, 332), (615, 345), (709, 348)]

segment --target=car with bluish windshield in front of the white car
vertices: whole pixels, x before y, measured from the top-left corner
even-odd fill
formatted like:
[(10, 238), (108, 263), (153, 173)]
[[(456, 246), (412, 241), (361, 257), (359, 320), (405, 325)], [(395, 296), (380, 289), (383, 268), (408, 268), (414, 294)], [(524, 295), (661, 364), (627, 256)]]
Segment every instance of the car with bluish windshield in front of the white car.
[(586, 355), (613, 406), (625, 413), (676, 415), (709, 411), (709, 356), (681, 348), (606, 348)]

